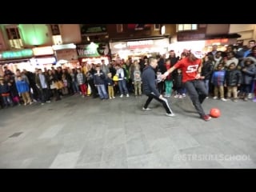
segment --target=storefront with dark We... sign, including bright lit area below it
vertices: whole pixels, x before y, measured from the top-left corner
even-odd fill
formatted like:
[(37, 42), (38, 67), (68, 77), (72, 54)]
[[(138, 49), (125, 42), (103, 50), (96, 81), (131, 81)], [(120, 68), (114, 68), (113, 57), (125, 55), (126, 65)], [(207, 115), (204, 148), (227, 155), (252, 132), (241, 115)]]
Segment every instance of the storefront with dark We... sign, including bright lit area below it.
[(110, 63), (110, 48), (106, 42), (77, 45), (77, 51), (80, 63), (102, 64), (102, 60), (105, 61), (106, 65)]

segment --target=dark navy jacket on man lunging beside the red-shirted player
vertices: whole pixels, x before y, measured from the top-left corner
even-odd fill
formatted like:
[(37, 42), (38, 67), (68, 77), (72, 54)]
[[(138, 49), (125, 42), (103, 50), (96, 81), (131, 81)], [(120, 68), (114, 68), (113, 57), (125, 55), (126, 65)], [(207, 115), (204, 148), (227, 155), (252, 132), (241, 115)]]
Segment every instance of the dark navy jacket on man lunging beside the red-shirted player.
[(156, 87), (155, 72), (152, 66), (146, 66), (142, 72), (142, 87), (145, 94), (154, 93), (157, 97), (160, 93)]

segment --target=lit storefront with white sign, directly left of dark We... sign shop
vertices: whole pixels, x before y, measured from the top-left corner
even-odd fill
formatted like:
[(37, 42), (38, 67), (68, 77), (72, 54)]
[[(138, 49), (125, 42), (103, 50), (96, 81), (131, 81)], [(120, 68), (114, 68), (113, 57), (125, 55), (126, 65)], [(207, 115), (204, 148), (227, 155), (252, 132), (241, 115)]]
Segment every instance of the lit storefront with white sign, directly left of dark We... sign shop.
[(76, 68), (79, 66), (78, 52), (74, 43), (52, 46), (57, 59), (56, 66)]

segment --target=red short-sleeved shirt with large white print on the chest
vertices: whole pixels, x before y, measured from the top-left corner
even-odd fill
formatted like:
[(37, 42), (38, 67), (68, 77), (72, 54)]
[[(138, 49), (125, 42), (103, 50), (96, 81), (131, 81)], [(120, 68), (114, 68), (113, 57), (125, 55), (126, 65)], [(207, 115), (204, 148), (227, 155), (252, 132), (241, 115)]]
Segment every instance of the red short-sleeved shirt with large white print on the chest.
[(174, 67), (182, 70), (182, 82), (187, 82), (195, 79), (195, 76), (198, 74), (198, 67), (201, 66), (201, 64), (202, 62), (199, 58), (194, 62), (191, 62), (189, 58), (182, 58)]

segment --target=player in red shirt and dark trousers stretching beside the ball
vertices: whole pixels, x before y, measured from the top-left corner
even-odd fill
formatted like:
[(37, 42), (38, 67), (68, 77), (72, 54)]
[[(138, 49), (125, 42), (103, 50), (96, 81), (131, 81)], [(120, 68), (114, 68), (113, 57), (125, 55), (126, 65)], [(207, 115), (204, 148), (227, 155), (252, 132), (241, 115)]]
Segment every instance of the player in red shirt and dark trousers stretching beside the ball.
[(210, 116), (204, 112), (201, 105), (207, 97), (206, 88), (200, 79), (202, 68), (201, 58), (201, 51), (190, 50), (189, 57), (182, 58), (182, 60), (178, 61), (174, 66), (167, 70), (165, 74), (162, 74), (162, 79), (165, 79), (175, 69), (180, 68), (182, 70), (182, 83), (186, 87), (195, 109), (203, 120), (209, 121)]

